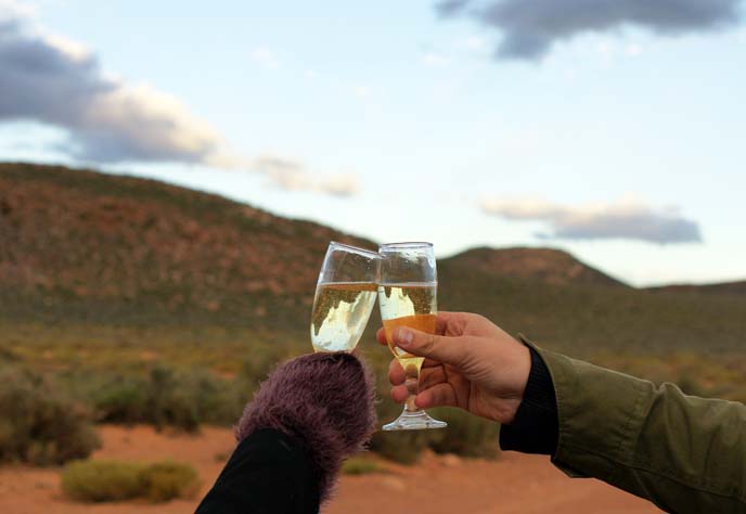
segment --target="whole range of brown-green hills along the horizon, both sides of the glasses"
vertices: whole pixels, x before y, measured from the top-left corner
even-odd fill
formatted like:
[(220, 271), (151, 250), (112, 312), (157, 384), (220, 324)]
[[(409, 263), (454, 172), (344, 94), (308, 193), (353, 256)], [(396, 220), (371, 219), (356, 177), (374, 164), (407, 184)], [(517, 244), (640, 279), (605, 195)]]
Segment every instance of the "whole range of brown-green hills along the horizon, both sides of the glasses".
[[(376, 247), (153, 180), (3, 164), (0, 322), (237, 327), (307, 344), (330, 240)], [(744, 348), (743, 296), (635, 290), (555, 249), (476, 248), (440, 259), (438, 274), (443, 310), (574, 355)]]

